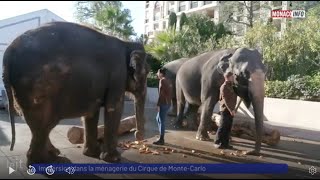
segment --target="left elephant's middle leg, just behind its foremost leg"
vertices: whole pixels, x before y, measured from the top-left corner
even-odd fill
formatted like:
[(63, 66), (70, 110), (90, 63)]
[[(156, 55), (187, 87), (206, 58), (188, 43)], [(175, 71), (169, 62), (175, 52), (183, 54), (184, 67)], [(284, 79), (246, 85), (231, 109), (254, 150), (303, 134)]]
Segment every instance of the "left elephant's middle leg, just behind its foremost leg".
[(100, 109), (98, 109), (93, 114), (93, 116), (82, 117), (83, 124), (85, 127), (85, 141), (83, 146), (83, 154), (90, 157), (99, 157), (100, 155), (100, 147), (97, 139), (99, 112)]

